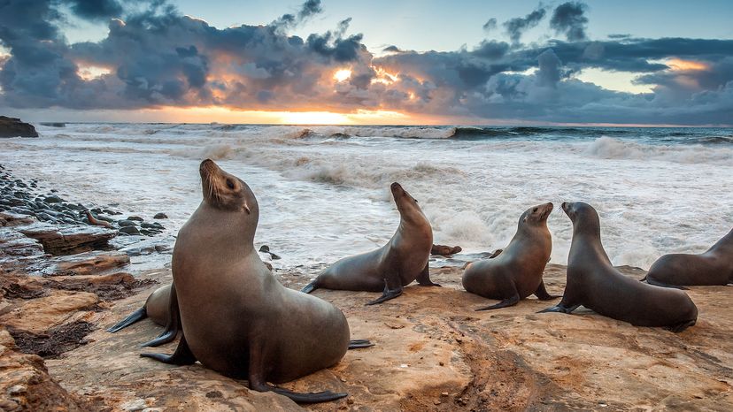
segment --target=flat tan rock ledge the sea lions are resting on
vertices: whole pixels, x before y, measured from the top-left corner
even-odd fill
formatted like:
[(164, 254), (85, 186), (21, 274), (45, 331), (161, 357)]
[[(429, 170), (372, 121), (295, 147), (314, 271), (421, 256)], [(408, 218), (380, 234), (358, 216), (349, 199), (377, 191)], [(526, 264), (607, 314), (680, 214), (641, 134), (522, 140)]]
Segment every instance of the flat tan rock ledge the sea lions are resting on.
[[(621, 271), (644, 276), (635, 268)], [(376, 344), (283, 385), (349, 393), (335, 402), (296, 405), (249, 391), (246, 381), (199, 363), (173, 367), (141, 358), (141, 352), (172, 353), (176, 343), (138, 347), (162, 330), (150, 320), (114, 334), (104, 328), (140, 308), (152, 288), (100, 312), (87, 345), (46, 364), (69, 393), (111, 410), (733, 410), (729, 287), (691, 287), (698, 324), (675, 334), (588, 309), (537, 314), (557, 301), (534, 297), (475, 312), (496, 301), (467, 294), (460, 275), (454, 267), (433, 269), (431, 278), (444, 287), (408, 286), (402, 296), (375, 306), (364, 305), (375, 294), (314, 292), (343, 310), (352, 339)], [(157, 276), (170, 281), (169, 271)], [(294, 289), (310, 280), (295, 272), (276, 277)], [(544, 280), (551, 294), (561, 294), (565, 267), (549, 264)]]

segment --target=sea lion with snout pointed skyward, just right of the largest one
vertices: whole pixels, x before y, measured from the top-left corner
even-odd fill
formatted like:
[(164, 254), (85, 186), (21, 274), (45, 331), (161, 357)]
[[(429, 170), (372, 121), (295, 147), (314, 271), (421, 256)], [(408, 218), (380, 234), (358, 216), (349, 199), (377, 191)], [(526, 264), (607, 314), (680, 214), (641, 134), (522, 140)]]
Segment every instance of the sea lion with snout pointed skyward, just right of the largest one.
[(403, 286), (417, 280), (421, 286), (440, 286), (430, 280), (428, 259), (433, 246), (433, 228), (418, 202), (399, 185), (392, 183), (392, 196), (399, 210), (399, 226), (382, 248), (344, 257), (321, 271), (301, 292), (340, 289), (381, 292), (382, 297), (366, 303), (374, 305), (402, 294)]

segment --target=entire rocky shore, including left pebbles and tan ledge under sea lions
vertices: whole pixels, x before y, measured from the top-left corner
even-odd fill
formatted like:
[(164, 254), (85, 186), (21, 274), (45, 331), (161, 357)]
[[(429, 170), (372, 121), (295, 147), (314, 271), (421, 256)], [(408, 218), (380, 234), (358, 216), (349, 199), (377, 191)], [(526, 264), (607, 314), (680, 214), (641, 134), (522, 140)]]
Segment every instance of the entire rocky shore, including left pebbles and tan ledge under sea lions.
[[(691, 287), (698, 324), (675, 334), (587, 309), (536, 314), (554, 301), (533, 297), (475, 312), (489, 301), (467, 294), (461, 270), (444, 266), (451, 261), (443, 257), (431, 262), (431, 278), (444, 287), (408, 286), (381, 305), (364, 305), (374, 294), (314, 293), (343, 309), (353, 339), (376, 345), (283, 386), (350, 394), (341, 401), (297, 405), (200, 364), (143, 359), (143, 351), (174, 350), (175, 343), (139, 347), (161, 327), (143, 320), (115, 334), (104, 328), (171, 281), (165, 267), (130, 265), (140, 254), (170, 254), (170, 242), (156, 233), (123, 235), (120, 229), (133, 226), (120, 221), (141, 233), (145, 222), (41, 186), (0, 169), (0, 410), (733, 409), (730, 286)], [(85, 210), (110, 226), (89, 225)], [(316, 271), (274, 275), (299, 289)], [(644, 276), (637, 268), (621, 271)], [(565, 267), (549, 264), (544, 279), (551, 294), (561, 294)]]

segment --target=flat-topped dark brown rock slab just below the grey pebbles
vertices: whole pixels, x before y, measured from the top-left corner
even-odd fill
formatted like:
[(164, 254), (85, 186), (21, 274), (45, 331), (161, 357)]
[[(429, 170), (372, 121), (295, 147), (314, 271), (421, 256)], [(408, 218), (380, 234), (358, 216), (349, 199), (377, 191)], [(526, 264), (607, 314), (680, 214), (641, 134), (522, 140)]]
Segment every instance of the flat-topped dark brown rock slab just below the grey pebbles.
[(21, 226), (17, 230), (40, 241), (45, 251), (52, 255), (68, 255), (104, 248), (118, 233), (113, 229), (89, 225), (36, 224)]

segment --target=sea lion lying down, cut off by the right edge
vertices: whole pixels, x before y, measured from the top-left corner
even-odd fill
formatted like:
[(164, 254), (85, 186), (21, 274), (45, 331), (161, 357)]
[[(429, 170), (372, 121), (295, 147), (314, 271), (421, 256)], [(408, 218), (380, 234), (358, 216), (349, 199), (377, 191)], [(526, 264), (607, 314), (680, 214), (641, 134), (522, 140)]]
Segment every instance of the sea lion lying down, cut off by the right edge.
[(642, 280), (657, 286), (725, 286), (733, 283), (733, 229), (705, 253), (661, 256), (652, 263)]

